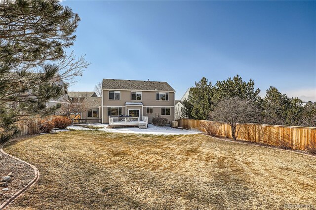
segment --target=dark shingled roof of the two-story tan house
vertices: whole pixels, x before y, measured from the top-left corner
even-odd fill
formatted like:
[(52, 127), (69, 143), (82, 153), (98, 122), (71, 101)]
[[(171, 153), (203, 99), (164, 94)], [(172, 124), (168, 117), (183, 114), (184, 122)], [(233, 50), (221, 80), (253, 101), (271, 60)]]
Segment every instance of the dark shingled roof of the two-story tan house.
[(167, 82), (144, 80), (103, 79), (102, 88), (116, 90), (157, 90), (175, 92)]

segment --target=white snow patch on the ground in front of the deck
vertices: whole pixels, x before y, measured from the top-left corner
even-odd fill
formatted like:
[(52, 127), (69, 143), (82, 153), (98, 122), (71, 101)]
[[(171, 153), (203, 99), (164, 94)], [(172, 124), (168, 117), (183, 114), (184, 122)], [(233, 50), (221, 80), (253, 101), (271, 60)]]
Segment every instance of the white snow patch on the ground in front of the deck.
[[(113, 132), (113, 133), (131, 133), (131, 134), (154, 134), (154, 135), (186, 135), (186, 134), (198, 134), (200, 132), (193, 130), (177, 129), (167, 126), (155, 126), (148, 124), (147, 129), (140, 129), (138, 127), (125, 127), (125, 128), (109, 128), (109, 124), (82, 124), (82, 126), (100, 127), (100, 131)], [(93, 130), (90, 128), (82, 127), (81, 125), (68, 126), (67, 129), (74, 130)]]

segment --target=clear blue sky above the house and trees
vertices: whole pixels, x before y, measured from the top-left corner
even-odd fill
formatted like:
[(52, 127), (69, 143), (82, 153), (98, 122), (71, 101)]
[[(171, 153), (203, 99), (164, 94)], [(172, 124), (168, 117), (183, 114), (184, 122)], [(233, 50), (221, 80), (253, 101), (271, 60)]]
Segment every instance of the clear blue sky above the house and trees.
[(180, 99), (202, 76), (239, 74), (316, 101), (316, 1), (62, 1), (81, 18), (70, 49), (102, 78), (167, 81)]

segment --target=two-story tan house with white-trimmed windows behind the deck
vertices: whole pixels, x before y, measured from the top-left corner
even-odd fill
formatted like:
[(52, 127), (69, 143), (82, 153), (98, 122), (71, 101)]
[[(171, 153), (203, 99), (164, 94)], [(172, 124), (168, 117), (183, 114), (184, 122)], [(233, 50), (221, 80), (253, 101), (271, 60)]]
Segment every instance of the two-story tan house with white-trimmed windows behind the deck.
[(102, 123), (109, 117), (132, 116), (142, 119), (164, 117), (174, 121), (174, 89), (167, 82), (103, 79)]

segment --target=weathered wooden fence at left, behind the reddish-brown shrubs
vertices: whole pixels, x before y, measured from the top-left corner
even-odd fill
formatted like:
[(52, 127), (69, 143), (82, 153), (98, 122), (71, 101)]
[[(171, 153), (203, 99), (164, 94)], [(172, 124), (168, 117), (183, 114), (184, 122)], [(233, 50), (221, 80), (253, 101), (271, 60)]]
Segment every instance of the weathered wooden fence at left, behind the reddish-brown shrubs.
[(38, 117), (38, 118), (18, 121), (16, 122), (16, 124), (21, 131), (19, 136), (32, 135), (34, 134), (34, 131), (37, 131), (39, 129), (38, 124), (40, 120), (49, 121), (55, 118), (67, 118), (67, 117), (60, 116), (60, 115), (51, 115), (51, 116), (47, 116), (43, 118)]

